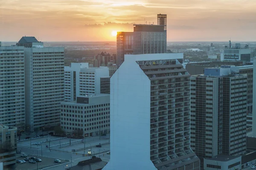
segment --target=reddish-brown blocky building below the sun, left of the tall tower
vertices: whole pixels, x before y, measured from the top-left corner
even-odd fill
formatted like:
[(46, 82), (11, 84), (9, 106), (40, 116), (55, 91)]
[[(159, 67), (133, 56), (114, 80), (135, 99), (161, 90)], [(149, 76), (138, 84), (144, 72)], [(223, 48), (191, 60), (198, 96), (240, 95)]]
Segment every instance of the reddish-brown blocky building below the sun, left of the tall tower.
[(94, 56), (93, 67), (109, 66), (113, 64), (116, 64), (116, 54), (111, 55), (102, 51), (100, 54)]

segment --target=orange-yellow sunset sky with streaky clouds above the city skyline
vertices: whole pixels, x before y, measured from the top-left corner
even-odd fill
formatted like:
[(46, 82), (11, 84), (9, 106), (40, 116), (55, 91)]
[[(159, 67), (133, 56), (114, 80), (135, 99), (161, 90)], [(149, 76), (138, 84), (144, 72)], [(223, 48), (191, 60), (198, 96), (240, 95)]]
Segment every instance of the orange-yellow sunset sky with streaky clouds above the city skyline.
[(0, 0), (0, 41), (115, 41), (160, 13), (167, 41), (256, 41), (256, 0)]

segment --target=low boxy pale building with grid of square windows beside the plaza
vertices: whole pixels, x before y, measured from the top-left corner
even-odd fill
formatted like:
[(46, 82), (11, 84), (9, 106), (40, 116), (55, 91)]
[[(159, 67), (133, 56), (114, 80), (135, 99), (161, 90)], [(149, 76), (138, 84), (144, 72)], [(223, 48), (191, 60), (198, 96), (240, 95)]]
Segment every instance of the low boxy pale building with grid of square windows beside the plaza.
[(110, 95), (77, 96), (76, 101), (61, 103), (61, 129), (67, 135), (81, 131), (98, 136), (110, 131)]

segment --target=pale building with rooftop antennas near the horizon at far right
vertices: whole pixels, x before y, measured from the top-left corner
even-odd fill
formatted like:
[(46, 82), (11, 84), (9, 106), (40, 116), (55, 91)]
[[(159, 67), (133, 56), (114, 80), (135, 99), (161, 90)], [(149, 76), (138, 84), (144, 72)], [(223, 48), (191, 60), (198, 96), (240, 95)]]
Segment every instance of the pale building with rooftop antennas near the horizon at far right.
[(241, 48), (240, 43), (236, 43), (234, 47), (231, 46), (231, 41), (229, 41), (229, 47), (226, 46), (224, 51), (221, 53), (221, 61), (238, 61), (241, 60), (244, 63), (251, 62), (251, 50), (248, 45)]

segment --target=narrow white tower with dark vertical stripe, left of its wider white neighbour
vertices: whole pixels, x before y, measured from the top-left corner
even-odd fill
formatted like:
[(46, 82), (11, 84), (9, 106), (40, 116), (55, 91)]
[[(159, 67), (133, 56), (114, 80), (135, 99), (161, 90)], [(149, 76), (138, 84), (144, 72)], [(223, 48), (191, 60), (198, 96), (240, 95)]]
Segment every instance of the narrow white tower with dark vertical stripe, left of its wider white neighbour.
[(81, 68), (89, 68), (88, 62), (74, 63), (64, 67), (64, 90), (65, 102), (75, 101), (79, 92), (79, 73)]

